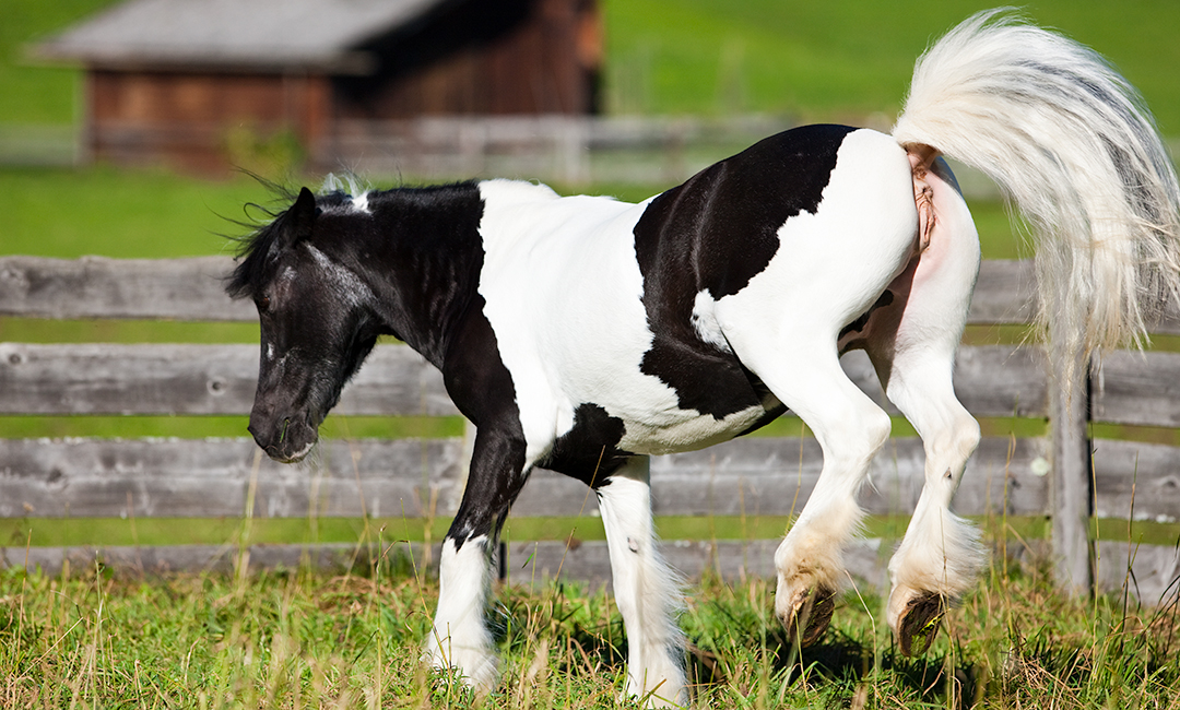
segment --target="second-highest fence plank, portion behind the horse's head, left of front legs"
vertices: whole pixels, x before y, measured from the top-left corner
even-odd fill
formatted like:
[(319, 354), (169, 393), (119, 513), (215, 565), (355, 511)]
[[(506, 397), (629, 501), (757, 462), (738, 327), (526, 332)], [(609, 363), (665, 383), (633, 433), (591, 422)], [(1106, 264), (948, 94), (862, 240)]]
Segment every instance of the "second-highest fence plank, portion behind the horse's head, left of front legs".
[[(256, 346), (0, 343), (0, 414), (248, 414)], [(442, 377), (405, 346), (379, 346), (337, 414), (458, 414)]]

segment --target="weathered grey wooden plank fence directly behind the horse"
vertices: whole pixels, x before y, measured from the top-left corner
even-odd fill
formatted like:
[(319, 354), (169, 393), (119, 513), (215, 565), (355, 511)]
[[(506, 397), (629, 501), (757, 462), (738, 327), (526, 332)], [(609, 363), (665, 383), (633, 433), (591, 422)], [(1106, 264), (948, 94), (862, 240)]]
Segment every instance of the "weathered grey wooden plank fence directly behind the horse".
[[(0, 258), (0, 317), (256, 322), (251, 304), (231, 302), (222, 292), (222, 276), (230, 267), (225, 257), (5, 257)], [(970, 323), (1025, 322), (1032, 278), (1025, 262), (985, 262)], [(1169, 320), (1159, 331), (1180, 334), (1180, 323)], [(0, 415), (243, 415), (251, 406), (257, 359), (257, 347), (249, 344), (0, 342)], [(867, 359), (848, 356), (845, 368), (897, 414), (885, 402)], [(1053, 550), (1067, 586), (1083, 589), (1097, 581), (1119, 587), (1132, 568), (1133, 591), (1141, 598), (1154, 601), (1174, 592), (1169, 585), (1180, 572), (1174, 546), (1140, 547), (1126, 534), (1095, 541), (1088, 531), (1092, 518), (1174, 524), (1180, 518), (1180, 449), (1092, 441), (1087, 423), (1180, 428), (1180, 354), (1109, 354), (1089, 387), (1069, 400), (1053, 386), (1038, 347), (964, 346), (955, 381), (961, 400), (977, 418), (1044, 421), (1055, 410), (1075, 413), (1073, 420), (1056, 415), (1044, 436), (985, 436), (956, 498), (958, 512), (994, 520), (1051, 520)], [(375, 349), (345, 389), (336, 412), (458, 415), (440, 375), (399, 344)], [(283, 466), (258, 456), (248, 438), (0, 438), (0, 518), (446, 518), (461, 495), (464, 451), (461, 438), (326, 440), (314, 462)], [(716, 538), (709, 533), (716, 527), (710, 521), (762, 524), (754, 525), (758, 530), (767, 521), (785, 521), (806, 501), (820, 460), (815, 441), (799, 435), (748, 436), (655, 458), (656, 514), (687, 520), (689, 527), (695, 520), (702, 531), (691, 540), (666, 541), (671, 563), (689, 576), (706, 568), (727, 577), (772, 574), (776, 540)], [(920, 442), (892, 439), (873, 462), (863, 504), (872, 515), (906, 515), (922, 482)], [(569, 531), (569, 526), (591, 527), (595, 513), (584, 486), (542, 471), (525, 487), (512, 518), (556, 517)], [(778, 531), (765, 537), (774, 534)], [(576, 579), (607, 577), (604, 543), (578, 543), (576, 535), (513, 538), (509, 555), (529, 565), (507, 565), (510, 577), (551, 577), (558, 571)], [(34, 540), (32, 547), (0, 548), (0, 557), (9, 565), (51, 570), (65, 559), (92, 561), (96, 554), (107, 564), (149, 568), (228, 564), (224, 546), (215, 545), (101, 550), (35, 545)], [(851, 554), (852, 571), (884, 584), (889, 547), (879, 539), (859, 544)], [(307, 555), (340, 559), (350, 548), (256, 545), (250, 559), (255, 564), (294, 564)]]

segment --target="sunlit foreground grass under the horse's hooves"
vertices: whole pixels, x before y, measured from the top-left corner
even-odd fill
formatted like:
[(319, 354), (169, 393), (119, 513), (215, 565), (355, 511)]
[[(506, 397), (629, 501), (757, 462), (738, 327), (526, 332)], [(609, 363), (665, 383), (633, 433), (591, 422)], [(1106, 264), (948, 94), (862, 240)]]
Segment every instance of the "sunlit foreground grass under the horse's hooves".
[[(617, 706), (627, 642), (604, 591), (497, 589), (503, 681), (477, 697), (420, 664), (438, 585), (402, 546), (382, 550), (334, 572), (0, 571), (4, 705)], [(1180, 708), (1176, 606), (1069, 599), (1042, 564), (994, 567), (922, 658), (900, 656), (868, 589), (846, 593), (799, 655), (772, 610), (765, 580), (689, 587), (681, 625), (697, 706)]]

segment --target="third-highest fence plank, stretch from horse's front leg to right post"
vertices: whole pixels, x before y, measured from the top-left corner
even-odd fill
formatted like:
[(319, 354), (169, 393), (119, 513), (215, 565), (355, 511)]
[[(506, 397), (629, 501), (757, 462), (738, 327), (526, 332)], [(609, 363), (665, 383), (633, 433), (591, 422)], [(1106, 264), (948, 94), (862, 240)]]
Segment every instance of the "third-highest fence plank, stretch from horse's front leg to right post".
[[(963, 514), (1041, 515), (1048, 512), (1047, 443), (985, 439), (968, 464), (955, 508)], [(822, 454), (813, 439), (747, 438), (699, 452), (655, 456), (653, 507), (657, 515), (789, 515), (819, 479)], [(872, 514), (909, 514), (925, 480), (922, 443), (891, 440), (873, 460), (860, 504)], [(514, 515), (596, 514), (585, 486), (549, 471), (533, 473)]]

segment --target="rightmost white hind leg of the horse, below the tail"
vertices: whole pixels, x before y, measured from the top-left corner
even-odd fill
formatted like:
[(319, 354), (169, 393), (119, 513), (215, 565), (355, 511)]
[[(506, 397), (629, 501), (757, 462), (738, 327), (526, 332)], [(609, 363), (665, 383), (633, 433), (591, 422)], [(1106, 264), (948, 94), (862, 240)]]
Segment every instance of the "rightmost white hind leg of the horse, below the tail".
[(864, 343), (886, 395), (910, 420), (926, 454), (922, 497), (890, 563), (886, 618), (905, 655), (924, 652), (949, 600), (975, 583), (983, 564), (978, 533), (950, 511), (979, 427), (955, 396), (955, 350), (978, 274), (979, 246), (965, 203), (945, 165), (927, 175), (935, 226), (927, 249), (890, 285), (902, 297), (874, 314)]

